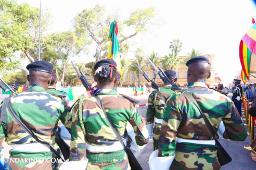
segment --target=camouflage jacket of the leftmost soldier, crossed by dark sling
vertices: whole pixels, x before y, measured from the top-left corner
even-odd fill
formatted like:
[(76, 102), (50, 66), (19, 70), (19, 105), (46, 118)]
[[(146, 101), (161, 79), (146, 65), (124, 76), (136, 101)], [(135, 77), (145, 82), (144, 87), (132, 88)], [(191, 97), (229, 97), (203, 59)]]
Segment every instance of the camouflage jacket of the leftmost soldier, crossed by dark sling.
[[(71, 117), (60, 98), (48, 94), (43, 87), (30, 86), (24, 92), (11, 97), (11, 105), (20, 119), (29, 126), (42, 141), (54, 145), (55, 132), (59, 120), (70, 130)], [(2, 104), (0, 107), (1, 116)], [(8, 145), (37, 143), (11, 117), (6, 109), (6, 123), (0, 124), (0, 150), (3, 142)]]

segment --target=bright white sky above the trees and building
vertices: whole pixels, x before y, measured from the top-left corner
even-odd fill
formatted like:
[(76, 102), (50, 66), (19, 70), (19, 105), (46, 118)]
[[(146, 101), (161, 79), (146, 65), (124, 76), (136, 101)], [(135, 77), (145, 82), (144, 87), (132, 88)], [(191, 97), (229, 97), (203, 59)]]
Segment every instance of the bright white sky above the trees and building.
[[(40, 0), (19, 0), (33, 7), (40, 7)], [(180, 39), (183, 43), (178, 55), (186, 55), (192, 48), (202, 54), (215, 55), (215, 73), (218, 73), (224, 86), (241, 73), (239, 43), (252, 26), (253, 4), (250, 0), (216, 1), (87, 1), (87, 0), (42, 0), (42, 9), (50, 8), (52, 25), (48, 33), (72, 30), (72, 19), (83, 9), (91, 9), (96, 4), (105, 6), (109, 13), (118, 12), (127, 19), (132, 11), (140, 8), (156, 7), (164, 21), (160, 27), (151, 27), (145, 34), (130, 39), (131, 52), (125, 56), (134, 58), (134, 51), (143, 48), (145, 54), (152, 50), (160, 56), (167, 55), (170, 42)], [(254, 12), (256, 13), (256, 11)], [(124, 30), (122, 34), (131, 35), (134, 30)], [(95, 45), (88, 54), (75, 58), (76, 62), (93, 60)]]

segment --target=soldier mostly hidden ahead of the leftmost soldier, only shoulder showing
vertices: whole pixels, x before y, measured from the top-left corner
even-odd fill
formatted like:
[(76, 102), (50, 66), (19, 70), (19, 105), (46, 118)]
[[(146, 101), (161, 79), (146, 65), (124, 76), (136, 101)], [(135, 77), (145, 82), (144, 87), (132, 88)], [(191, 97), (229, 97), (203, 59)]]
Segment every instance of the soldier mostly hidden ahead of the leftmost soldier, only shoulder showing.
[(56, 97), (60, 97), (61, 100), (64, 102), (65, 106), (69, 109), (70, 105), (71, 105), (69, 96), (65, 92), (56, 90), (56, 83), (57, 83), (57, 76), (56, 76), (56, 72), (53, 71), (52, 81), (50, 82), (50, 86), (49, 86), (48, 90), (46, 90), (46, 92), (49, 94), (52, 94)]

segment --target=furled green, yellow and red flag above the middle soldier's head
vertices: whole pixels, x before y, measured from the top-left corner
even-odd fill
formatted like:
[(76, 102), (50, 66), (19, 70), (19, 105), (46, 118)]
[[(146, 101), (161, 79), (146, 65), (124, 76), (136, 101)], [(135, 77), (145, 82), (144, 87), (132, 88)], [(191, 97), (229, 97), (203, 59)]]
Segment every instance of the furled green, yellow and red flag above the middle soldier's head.
[(122, 76), (121, 59), (120, 59), (117, 35), (118, 35), (118, 25), (117, 25), (117, 22), (114, 21), (110, 25), (108, 40), (111, 40), (111, 41), (110, 41), (107, 58), (113, 59), (114, 61), (116, 61), (117, 72)]

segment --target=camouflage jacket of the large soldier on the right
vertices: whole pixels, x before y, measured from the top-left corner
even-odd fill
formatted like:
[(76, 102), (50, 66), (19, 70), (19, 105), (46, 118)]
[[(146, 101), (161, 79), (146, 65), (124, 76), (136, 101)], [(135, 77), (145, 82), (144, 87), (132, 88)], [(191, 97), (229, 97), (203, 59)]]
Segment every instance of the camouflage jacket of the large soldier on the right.
[[(202, 82), (189, 84), (187, 91), (196, 99), (215, 132), (223, 121), (226, 130), (223, 137), (234, 141), (244, 141), (247, 132), (242, 119), (231, 99), (215, 90), (208, 89)], [(212, 140), (196, 105), (178, 91), (168, 98), (159, 138), (159, 156), (171, 156), (175, 149), (189, 153), (192, 150), (216, 150), (216, 146), (193, 144), (176, 148), (176, 136), (184, 139)], [(219, 138), (215, 134), (216, 138)], [(205, 151), (205, 150), (204, 150)]]

